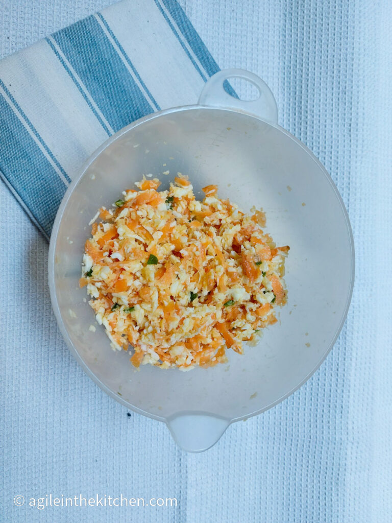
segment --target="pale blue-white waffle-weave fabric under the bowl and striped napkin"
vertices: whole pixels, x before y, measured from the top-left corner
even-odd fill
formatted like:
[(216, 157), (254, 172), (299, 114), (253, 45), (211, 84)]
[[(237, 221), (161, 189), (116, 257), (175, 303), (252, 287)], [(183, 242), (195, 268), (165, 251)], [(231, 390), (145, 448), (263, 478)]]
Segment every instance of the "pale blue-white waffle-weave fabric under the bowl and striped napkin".
[[(111, 0), (3, 0), (0, 56)], [(336, 181), (356, 247), (347, 324), (271, 411), (186, 454), (105, 396), (51, 312), (48, 246), (0, 185), (1, 521), (389, 523), (392, 518), (392, 6), (388, 0), (182, 0), (224, 67), (270, 85), (280, 123)], [(333, 260), (331, 260), (333, 277)], [(4, 471), (4, 474), (3, 474)], [(16, 507), (15, 495), (177, 497), (177, 508)]]

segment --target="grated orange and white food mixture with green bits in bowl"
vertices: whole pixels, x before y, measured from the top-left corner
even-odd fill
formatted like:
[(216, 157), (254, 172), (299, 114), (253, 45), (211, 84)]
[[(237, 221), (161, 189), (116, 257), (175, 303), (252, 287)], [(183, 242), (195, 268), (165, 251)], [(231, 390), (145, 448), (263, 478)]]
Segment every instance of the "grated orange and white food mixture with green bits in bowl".
[(203, 201), (180, 173), (169, 190), (159, 185), (143, 177), (139, 190), (100, 209), (80, 286), (111, 347), (132, 348), (135, 367), (226, 362), (227, 349), (242, 353), (277, 321), (289, 247), (263, 231), (261, 211), (244, 214), (217, 197), (216, 185), (203, 188)]

